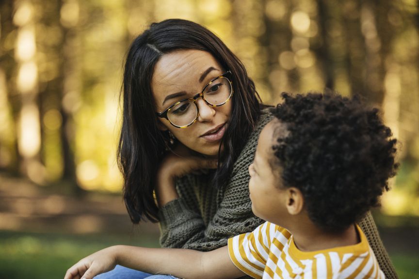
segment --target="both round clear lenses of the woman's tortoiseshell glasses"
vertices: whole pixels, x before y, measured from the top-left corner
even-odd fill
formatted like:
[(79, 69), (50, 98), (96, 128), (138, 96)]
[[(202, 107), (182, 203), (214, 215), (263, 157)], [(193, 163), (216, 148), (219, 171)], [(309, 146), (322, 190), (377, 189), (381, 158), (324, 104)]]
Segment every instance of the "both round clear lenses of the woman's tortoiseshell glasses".
[[(203, 92), (203, 98), (213, 106), (221, 106), (230, 98), (232, 93), (230, 81), (220, 77), (212, 81)], [(167, 112), (167, 118), (176, 126), (192, 124), (198, 115), (196, 103), (192, 100), (179, 102)]]

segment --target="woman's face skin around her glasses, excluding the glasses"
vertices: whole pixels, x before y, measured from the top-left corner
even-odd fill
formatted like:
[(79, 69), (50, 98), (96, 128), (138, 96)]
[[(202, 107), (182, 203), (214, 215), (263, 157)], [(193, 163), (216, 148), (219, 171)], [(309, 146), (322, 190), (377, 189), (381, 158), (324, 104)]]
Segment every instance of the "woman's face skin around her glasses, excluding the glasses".
[[(224, 74), (225, 70), (206, 51), (177, 50), (164, 54), (154, 68), (151, 81), (156, 112), (193, 97), (212, 79)], [(177, 128), (167, 119), (159, 118), (161, 130), (170, 130), (177, 140), (198, 153), (217, 156), (230, 119), (231, 103), (210, 107), (202, 98), (198, 98), (199, 116), (195, 123), (186, 128)]]

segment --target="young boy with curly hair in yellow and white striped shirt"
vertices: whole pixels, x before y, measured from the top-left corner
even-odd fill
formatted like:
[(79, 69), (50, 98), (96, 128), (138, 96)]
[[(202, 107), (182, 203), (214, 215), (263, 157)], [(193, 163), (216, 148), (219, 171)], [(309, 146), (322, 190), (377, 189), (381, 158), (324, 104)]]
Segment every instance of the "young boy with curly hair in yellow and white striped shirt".
[(64, 279), (116, 264), (179, 278), (384, 278), (355, 224), (395, 175), (396, 140), (377, 109), (333, 93), (283, 94), (249, 166), (252, 210), (267, 222), (210, 252), (113, 246)]

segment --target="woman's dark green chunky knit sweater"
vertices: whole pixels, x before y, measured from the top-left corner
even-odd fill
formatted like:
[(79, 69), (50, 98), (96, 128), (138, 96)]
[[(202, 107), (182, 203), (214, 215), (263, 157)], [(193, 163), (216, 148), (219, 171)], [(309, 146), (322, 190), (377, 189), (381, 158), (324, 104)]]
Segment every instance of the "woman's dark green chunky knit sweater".
[[(233, 165), (228, 183), (220, 189), (210, 185), (210, 175), (189, 174), (177, 180), (179, 198), (161, 207), (161, 246), (210, 251), (227, 245), (227, 239), (252, 232), (264, 221), (252, 212), (248, 167), (253, 162), (262, 128), (274, 118), (262, 110), (257, 126)], [(381, 242), (371, 213), (359, 223), (386, 278), (397, 278)]]

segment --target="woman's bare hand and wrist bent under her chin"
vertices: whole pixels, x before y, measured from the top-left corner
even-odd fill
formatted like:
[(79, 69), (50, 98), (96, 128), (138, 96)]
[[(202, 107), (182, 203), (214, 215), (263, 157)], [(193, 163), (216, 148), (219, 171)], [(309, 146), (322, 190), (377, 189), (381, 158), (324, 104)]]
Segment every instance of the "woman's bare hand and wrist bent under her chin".
[(161, 162), (157, 172), (156, 195), (159, 206), (178, 198), (176, 180), (188, 173), (205, 173), (217, 168), (217, 159), (194, 155), (188, 147), (177, 142)]

